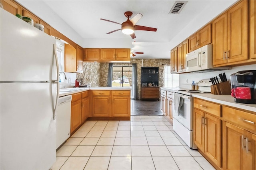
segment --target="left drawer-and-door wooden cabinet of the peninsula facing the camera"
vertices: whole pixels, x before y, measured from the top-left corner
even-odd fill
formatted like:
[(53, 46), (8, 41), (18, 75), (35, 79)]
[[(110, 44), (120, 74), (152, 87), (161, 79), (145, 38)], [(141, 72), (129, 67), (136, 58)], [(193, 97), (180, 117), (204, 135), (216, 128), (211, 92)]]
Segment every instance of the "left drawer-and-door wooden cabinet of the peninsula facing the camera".
[(92, 117), (110, 117), (111, 97), (109, 90), (92, 91)]

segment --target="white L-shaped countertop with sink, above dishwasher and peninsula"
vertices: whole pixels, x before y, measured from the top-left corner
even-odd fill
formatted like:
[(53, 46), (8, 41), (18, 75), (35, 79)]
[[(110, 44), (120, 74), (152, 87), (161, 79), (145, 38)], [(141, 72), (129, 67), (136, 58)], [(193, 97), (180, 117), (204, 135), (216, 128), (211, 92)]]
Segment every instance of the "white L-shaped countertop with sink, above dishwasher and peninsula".
[(88, 91), (88, 90), (131, 90), (132, 88), (131, 87), (83, 87), (83, 88), (77, 88), (77, 89), (79, 90), (60, 92), (59, 97), (72, 95), (74, 93), (81, 93), (83, 91)]

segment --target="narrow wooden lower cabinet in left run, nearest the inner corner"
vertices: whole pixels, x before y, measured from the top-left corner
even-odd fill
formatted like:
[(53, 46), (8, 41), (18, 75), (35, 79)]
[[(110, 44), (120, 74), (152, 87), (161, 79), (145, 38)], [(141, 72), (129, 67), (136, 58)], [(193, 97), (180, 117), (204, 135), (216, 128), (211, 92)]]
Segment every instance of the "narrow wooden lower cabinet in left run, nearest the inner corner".
[(86, 121), (90, 113), (89, 91), (82, 92), (82, 123)]

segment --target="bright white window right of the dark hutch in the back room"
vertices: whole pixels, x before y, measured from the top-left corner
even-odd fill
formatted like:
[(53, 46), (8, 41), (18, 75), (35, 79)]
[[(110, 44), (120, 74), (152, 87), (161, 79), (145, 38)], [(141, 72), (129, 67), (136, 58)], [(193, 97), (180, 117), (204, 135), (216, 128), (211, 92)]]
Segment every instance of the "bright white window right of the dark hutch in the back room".
[(171, 74), (171, 66), (164, 66), (164, 87), (178, 87), (180, 77), (178, 74)]

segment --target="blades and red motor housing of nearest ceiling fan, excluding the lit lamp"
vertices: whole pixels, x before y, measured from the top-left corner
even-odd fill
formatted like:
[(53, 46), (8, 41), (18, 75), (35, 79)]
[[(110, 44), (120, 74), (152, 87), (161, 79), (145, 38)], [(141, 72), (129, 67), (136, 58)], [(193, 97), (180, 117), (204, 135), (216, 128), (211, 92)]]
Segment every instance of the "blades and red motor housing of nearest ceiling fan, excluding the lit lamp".
[[(122, 28), (124, 26), (129, 26), (129, 25), (133, 26), (134, 31), (141, 30), (141, 31), (153, 31), (153, 32), (156, 32), (156, 30), (157, 30), (157, 28), (151, 28), (151, 27), (146, 27), (146, 26), (135, 25), (143, 16), (140, 13), (136, 14), (131, 20), (130, 20), (130, 17), (132, 16), (132, 12), (130, 12), (130, 11), (124, 12), (124, 16), (126, 16), (127, 20), (125, 22), (123, 22), (122, 24), (119, 24), (118, 22), (114, 22), (114, 21), (110, 21), (110, 20), (106, 20), (106, 19), (100, 18), (100, 20), (104, 20), (104, 21), (107, 21), (107, 22), (112, 22), (112, 23), (121, 25), (121, 29), (111, 31), (111, 32), (108, 32), (106, 34), (111, 34), (113, 32), (122, 30)], [(132, 39), (136, 38), (134, 33), (130, 34), (130, 36), (132, 37)]]

